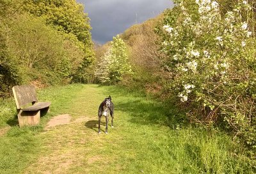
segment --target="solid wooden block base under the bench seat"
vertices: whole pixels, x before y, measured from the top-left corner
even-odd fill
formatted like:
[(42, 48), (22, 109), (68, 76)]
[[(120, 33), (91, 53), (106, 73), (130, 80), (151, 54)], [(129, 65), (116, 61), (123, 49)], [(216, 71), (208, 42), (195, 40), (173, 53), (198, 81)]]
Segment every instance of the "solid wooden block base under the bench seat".
[(20, 127), (24, 125), (38, 125), (40, 123), (40, 110), (22, 111), (18, 110), (18, 119)]

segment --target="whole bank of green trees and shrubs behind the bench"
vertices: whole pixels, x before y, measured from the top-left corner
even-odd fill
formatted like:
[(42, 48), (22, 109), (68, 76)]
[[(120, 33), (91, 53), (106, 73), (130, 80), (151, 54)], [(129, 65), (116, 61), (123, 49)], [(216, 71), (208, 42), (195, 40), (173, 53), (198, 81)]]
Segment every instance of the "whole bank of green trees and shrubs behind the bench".
[[(76, 1), (0, 1), (0, 96), (15, 84), (92, 79), (90, 23)], [(22, 65), (22, 66), (20, 66)]]

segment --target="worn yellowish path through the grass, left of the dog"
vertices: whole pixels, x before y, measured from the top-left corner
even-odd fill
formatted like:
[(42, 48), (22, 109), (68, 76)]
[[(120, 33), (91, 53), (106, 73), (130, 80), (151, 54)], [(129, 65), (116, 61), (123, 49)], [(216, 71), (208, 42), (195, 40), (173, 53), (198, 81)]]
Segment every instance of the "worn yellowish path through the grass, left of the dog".
[(24, 173), (92, 173), (88, 166), (106, 163), (104, 154), (97, 154), (106, 138), (97, 133), (97, 108), (105, 96), (95, 90), (80, 91), (70, 106), (72, 114), (55, 116), (47, 123), (39, 135), (44, 139), (42, 154)]

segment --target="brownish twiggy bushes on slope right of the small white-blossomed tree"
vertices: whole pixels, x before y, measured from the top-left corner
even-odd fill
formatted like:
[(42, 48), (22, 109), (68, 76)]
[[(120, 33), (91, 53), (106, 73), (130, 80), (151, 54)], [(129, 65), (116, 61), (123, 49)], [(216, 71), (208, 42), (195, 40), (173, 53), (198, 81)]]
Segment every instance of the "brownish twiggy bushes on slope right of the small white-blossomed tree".
[(166, 73), (159, 61), (162, 55), (156, 44), (158, 36), (154, 33), (156, 24), (162, 19), (163, 14), (142, 24), (135, 24), (121, 35), (129, 47), (129, 61), (134, 72), (132, 77), (127, 76), (122, 80), (122, 85), (131, 90), (154, 95), (159, 95), (163, 90)]

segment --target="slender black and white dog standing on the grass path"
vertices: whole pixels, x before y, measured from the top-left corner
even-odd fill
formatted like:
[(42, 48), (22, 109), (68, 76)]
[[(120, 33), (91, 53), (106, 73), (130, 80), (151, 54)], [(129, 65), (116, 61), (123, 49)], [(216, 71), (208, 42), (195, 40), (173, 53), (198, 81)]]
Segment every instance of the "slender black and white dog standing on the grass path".
[(113, 126), (113, 118), (114, 118), (114, 104), (111, 102), (111, 96), (109, 95), (108, 98), (104, 99), (104, 101), (99, 106), (99, 134), (100, 134), (100, 118), (101, 116), (106, 117), (106, 134), (108, 134), (108, 116), (111, 115), (111, 127)]

